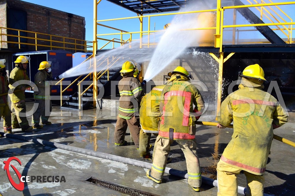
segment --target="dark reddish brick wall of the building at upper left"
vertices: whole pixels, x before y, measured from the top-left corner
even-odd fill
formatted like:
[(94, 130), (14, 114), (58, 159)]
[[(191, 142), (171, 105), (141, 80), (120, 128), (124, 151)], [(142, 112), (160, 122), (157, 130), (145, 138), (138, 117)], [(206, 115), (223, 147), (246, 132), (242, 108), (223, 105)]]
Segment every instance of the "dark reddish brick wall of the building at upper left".
[[(5, 2), (7, 2), (7, 6)], [(7, 10), (9, 8), (13, 10), (25, 11), (27, 13), (27, 31), (85, 40), (85, 18), (82, 16), (19, 0), (0, 0), (0, 5), (0, 17), (1, 19), (3, 18), (4, 21), (6, 21), (7, 16), (5, 9)], [(1, 20), (1, 22), (2, 21), (3, 20)], [(35, 37), (35, 34), (27, 33), (27, 36)], [(37, 35), (37, 38), (50, 39), (50, 36)], [(69, 43), (75, 43), (74, 39), (63, 40), (63, 38), (60, 37), (54, 37), (52, 39), (60, 42), (65, 41)], [(27, 42), (35, 44), (35, 40), (33, 39), (27, 39)], [(82, 41), (76, 41), (76, 43), (83, 44)], [(38, 40), (37, 44), (50, 45), (50, 42)], [(63, 43), (52, 42), (51, 45), (62, 47)], [(75, 46), (71, 44), (65, 44), (65, 47), (75, 48)], [(35, 50), (35, 46), (28, 46), (28, 49), (30, 48)], [(79, 48), (83, 47), (80, 46)], [(38, 50), (45, 49), (50, 48), (42, 46), (38, 47)]]

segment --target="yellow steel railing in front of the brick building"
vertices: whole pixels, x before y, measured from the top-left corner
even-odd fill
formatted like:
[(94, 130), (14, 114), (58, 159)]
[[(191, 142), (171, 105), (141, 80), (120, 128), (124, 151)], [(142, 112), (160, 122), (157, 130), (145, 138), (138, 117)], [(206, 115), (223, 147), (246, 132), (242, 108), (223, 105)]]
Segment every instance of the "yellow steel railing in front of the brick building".
[[(21, 34), (26, 34), (26, 36)], [(32, 50), (35, 49), (36, 51), (45, 47), (50, 48), (50, 50), (64, 49), (75, 52), (92, 52), (93, 46), (91, 44), (92, 41), (0, 27), (0, 48), (10, 48), (13, 45), (13, 47), (21, 49), (21, 45), (27, 45), (34, 46)]]

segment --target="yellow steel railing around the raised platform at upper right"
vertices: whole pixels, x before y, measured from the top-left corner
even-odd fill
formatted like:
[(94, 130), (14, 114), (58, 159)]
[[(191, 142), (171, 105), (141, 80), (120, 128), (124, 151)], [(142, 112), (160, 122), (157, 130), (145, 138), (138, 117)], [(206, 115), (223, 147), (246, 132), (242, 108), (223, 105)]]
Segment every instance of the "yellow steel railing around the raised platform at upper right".
[[(292, 25), (294, 24), (293, 20), (291, 19), (290, 16), (288, 16), (279, 6), (281, 5), (291, 5), (291, 4), (295, 4), (295, 2), (278, 2), (278, 3), (273, 3), (273, 1), (268, 0), (270, 3), (266, 3), (266, 1), (261, 0), (261, 3), (258, 3), (258, 0), (246, 0), (248, 1), (250, 4), (249, 5), (243, 5), (243, 6), (226, 6), (226, 7), (221, 7), (221, 0), (217, 0), (217, 9), (211, 9), (211, 10), (201, 10), (201, 11), (189, 11), (189, 12), (178, 12), (178, 13), (164, 13), (164, 14), (153, 14), (153, 15), (146, 15), (146, 16), (142, 16), (142, 15), (137, 15), (137, 16), (133, 16), (133, 17), (125, 17), (125, 18), (115, 18), (115, 19), (104, 19), (104, 20), (96, 20), (96, 24), (100, 25), (100, 26), (104, 26), (110, 29), (114, 29), (117, 30), (119, 32), (117, 33), (99, 33), (96, 34), (94, 36), (96, 36), (96, 39), (102, 39), (101, 36), (120, 36), (120, 41), (118, 41), (120, 43), (120, 45), (122, 46), (122, 43), (124, 44), (123, 35), (130, 35), (129, 39), (129, 43), (134, 41), (132, 40), (132, 35), (134, 34), (139, 34), (140, 35), (140, 46), (145, 46), (145, 47), (150, 47), (151, 45), (154, 46), (157, 43), (150, 43), (150, 35), (152, 33), (156, 33), (156, 32), (160, 32), (163, 30), (151, 30), (150, 29), (150, 21), (151, 18), (153, 17), (157, 17), (157, 16), (168, 16), (168, 15), (176, 15), (176, 14), (191, 14), (191, 13), (200, 13), (200, 12), (211, 12), (214, 11), (217, 13), (217, 23), (216, 23), (216, 27), (208, 27), (208, 28), (198, 28), (198, 29), (189, 29), (189, 30), (206, 30), (206, 29), (216, 29), (216, 34), (215, 34), (215, 43), (214, 46), (217, 48), (220, 48), (220, 51), (222, 51), (222, 40), (224, 39), (224, 35), (223, 35), (223, 31), (226, 30), (227, 28), (233, 28), (234, 32), (241, 32), (244, 30), (235, 30), (237, 27), (255, 27), (255, 26), (276, 26), (276, 28), (272, 28), (273, 31), (281, 31), (281, 33), (286, 36), (286, 40), (283, 39), (286, 43), (294, 43), (294, 41), (292, 41)], [(270, 22), (268, 23), (264, 23), (264, 24), (242, 24), (242, 25), (224, 25), (223, 21), (224, 21), (224, 11), (228, 10), (228, 9), (237, 9), (237, 8), (251, 8), (254, 7), (255, 9), (258, 9), (260, 11), (260, 19), (263, 19), (263, 16), (266, 17), (266, 19), (268, 19)], [(276, 8), (278, 11), (276, 11), (274, 8)], [(128, 19), (136, 19), (138, 18), (140, 20), (140, 31), (132, 31), (132, 32), (128, 32), (128, 31), (123, 31), (121, 29), (117, 29), (114, 27), (110, 27), (110, 26), (106, 26), (106, 25), (102, 25), (102, 22), (108, 22), (108, 21), (118, 21), (118, 20), (128, 20)], [(142, 20), (146, 18), (148, 19), (147, 22), (147, 31), (143, 31), (143, 27), (142, 27)], [(288, 21), (289, 22), (288, 22)], [(186, 29), (188, 30), (188, 29)], [(246, 30), (248, 31), (248, 30)], [(257, 31), (257, 30), (251, 30), (251, 31)], [(147, 35), (148, 36), (148, 41), (147, 43), (142, 43), (142, 36), (143, 35)], [(233, 39), (235, 38), (235, 36), (233, 36)], [(111, 42), (113, 42), (114, 40), (112, 40)], [(116, 42), (115, 42), (116, 43)], [(234, 40), (232, 41), (232, 43), (235, 43)], [(239, 42), (239, 43), (269, 43), (269, 42), (261, 42), (261, 41), (255, 41), (255, 40), (250, 40), (247, 42)], [(105, 46), (104, 46), (105, 47)], [(131, 46), (129, 46), (131, 47)]]

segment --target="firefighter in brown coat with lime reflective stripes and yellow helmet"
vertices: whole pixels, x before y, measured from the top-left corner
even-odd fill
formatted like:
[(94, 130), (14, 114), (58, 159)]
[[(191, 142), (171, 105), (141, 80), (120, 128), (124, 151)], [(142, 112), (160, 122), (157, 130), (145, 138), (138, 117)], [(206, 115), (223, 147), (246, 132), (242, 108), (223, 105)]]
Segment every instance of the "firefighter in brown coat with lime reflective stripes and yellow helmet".
[(130, 134), (133, 138), (136, 148), (139, 148), (139, 131), (140, 123), (138, 117), (138, 108), (142, 96), (144, 95), (140, 82), (134, 78), (136, 62), (133, 60), (126, 61), (120, 71), (123, 77), (118, 84), (119, 115), (117, 118), (114, 140), (115, 146), (127, 145), (124, 140), (127, 127), (129, 126)]

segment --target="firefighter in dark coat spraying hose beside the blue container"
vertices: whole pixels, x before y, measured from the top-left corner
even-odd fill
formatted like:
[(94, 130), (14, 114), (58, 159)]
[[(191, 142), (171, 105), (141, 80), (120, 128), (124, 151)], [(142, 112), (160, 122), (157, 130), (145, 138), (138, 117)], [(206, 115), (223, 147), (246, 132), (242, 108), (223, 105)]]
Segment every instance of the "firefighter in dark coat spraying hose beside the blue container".
[[(32, 127), (36, 129), (43, 128), (43, 125), (51, 125), (48, 121), (50, 112), (52, 110), (50, 93), (45, 93), (46, 81), (52, 80), (51, 73), (51, 61), (42, 61), (39, 65), (38, 72), (35, 74), (35, 84), (38, 87), (38, 91), (34, 92), (35, 103), (38, 103), (38, 108), (33, 114)], [(49, 105), (45, 104), (49, 100)], [(40, 117), (41, 123), (40, 125)]]

